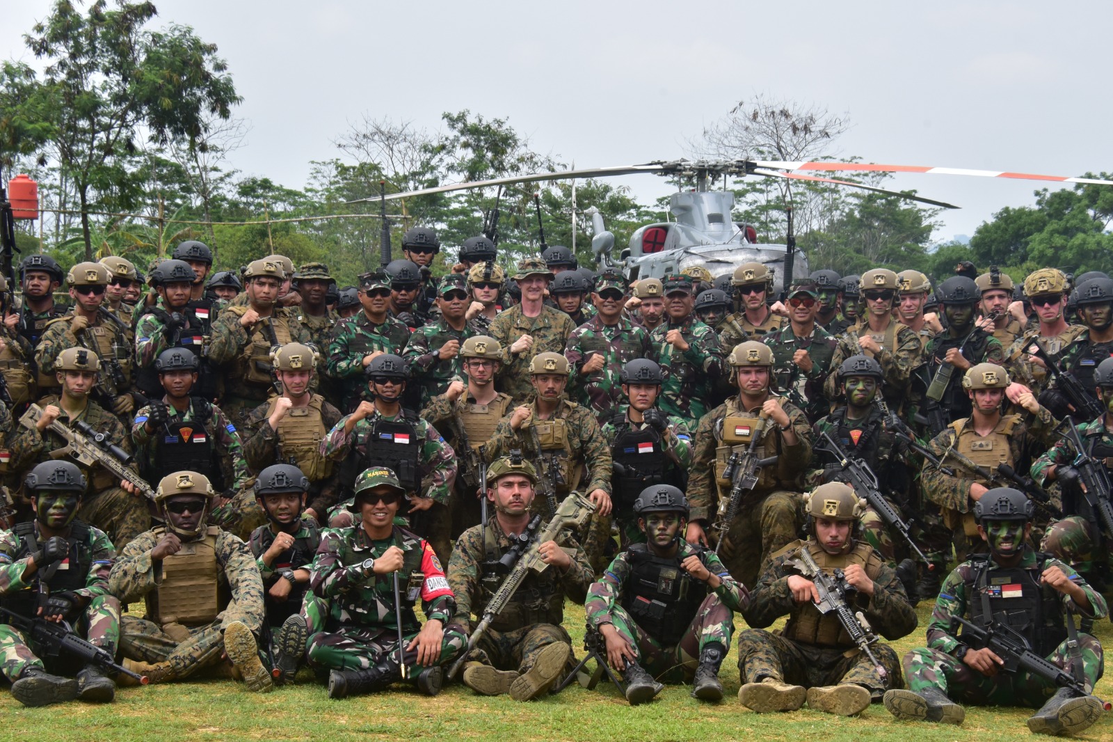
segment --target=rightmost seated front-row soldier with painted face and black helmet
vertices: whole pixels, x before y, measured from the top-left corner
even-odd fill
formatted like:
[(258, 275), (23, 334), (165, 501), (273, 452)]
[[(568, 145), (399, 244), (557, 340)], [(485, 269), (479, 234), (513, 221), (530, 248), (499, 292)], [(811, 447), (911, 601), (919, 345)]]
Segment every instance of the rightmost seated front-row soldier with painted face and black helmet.
[(1072, 614), (1102, 618), (1105, 599), (1071, 567), (1027, 545), (1034, 508), (1023, 492), (991, 489), (974, 510), (989, 553), (959, 564), (947, 577), (927, 627), (927, 646), (904, 656), (908, 690), (888, 691), (885, 707), (897, 719), (961, 724), (966, 714), (956, 701), (1022, 704), (1040, 709), (1028, 717), (1032, 732), (1077, 734), (1101, 716), (1101, 701), (1056, 689), (1033, 672), (1002, 667), (1004, 658), (993, 650), (956, 634), (953, 618), (968, 616), (978, 626), (999, 622), (1089, 691), (1102, 676), (1102, 645), (1076, 634)]

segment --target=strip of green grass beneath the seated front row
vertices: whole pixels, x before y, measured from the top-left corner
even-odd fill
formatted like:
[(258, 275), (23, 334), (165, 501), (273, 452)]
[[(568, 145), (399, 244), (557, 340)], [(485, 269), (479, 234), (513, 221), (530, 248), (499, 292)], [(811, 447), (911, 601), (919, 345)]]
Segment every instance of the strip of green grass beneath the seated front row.
[[(918, 608), (920, 628), (894, 643), (903, 653), (924, 641), (929, 604)], [(565, 625), (579, 652), (583, 611), (569, 606)], [(742, 627), (741, 618), (736, 618)], [(1113, 624), (1096, 628), (1104, 644), (1113, 643)], [(861, 717), (843, 719), (807, 707), (789, 714), (756, 714), (737, 700), (737, 655), (723, 663), (727, 696), (718, 705), (697, 702), (683, 686), (667, 686), (650, 704), (630, 707), (610, 683), (585, 691), (574, 682), (560, 695), (516, 703), (509, 697), (474, 695), (452, 685), (433, 699), (402, 684), (396, 690), (344, 701), (329, 701), (325, 687), (303, 671), (294, 686), (258, 695), (232, 681), (208, 680), (150, 687), (120, 689), (116, 703), (92, 706), (69, 703), (23, 709), (0, 694), (0, 740), (761, 740), (770, 742), (948, 742), (1015, 740), (1030, 736), (1024, 709), (967, 707), (961, 728), (894, 720), (875, 704)], [(1097, 693), (1113, 699), (1113, 683), (1102, 681)], [(1089, 730), (1085, 739), (1113, 740), (1113, 713)]]

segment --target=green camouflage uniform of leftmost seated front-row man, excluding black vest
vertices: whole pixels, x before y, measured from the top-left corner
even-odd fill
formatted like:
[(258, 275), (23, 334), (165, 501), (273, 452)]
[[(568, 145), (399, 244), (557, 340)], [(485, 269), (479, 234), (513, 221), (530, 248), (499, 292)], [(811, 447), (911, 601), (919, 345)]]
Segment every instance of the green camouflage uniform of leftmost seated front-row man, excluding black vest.
[[(70, 528), (77, 521), (70, 524)], [(40, 540), (38, 523), (35, 524), (36, 543)], [(116, 550), (108, 536), (102, 530), (89, 527), (88, 546), (91, 553), (89, 573), (85, 587), (73, 593), (89, 601), (89, 605), (75, 622), (75, 631), (90, 644), (99, 646), (110, 655), (116, 655), (116, 645), (120, 638), (120, 602), (108, 590), (108, 572), (116, 558)], [(23, 582), (30, 555), (20, 557), (23, 545), (12, 530), (0, 533), (0, 604), (10, 601), (21, 590), (38, 590), (39, 572), (31, 575), (30, 582)], [(68, 566), (68, 565), (67, 565)], [(57, 573), (56, 573), (57, 574)], [(31, 601), (33, 603), (33, 601)], [(57, 661), (51, 661), (51, 667), (46, 668), (39, 656), (45, 647), (38, 646), (29, 636), (18, 628), (0, 624), (0, 668), (9, 682), (19, 678), (27, 667), (39, 667), (53, 671)], [(63, 660), (63, 657), (58, 657)], [(65, 657), (65, 660), (70, 660)]]

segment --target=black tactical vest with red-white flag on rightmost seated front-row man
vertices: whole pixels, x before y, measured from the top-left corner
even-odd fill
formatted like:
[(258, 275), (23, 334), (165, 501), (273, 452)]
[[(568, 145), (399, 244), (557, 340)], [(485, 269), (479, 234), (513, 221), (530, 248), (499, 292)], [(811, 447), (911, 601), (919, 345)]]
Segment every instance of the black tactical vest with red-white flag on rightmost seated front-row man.
[[(1066, 638), (1066, 624), (1060, 594), (1040, 584), (1048, 558), (1040, 554), (1036, 565), (1024, 569), (991, 564), (988, 554), (973, 555), (974, 574), (966, 583), (971, 623), (988, 624), (992, 615), (993, 621), (1024, 636), (1041, 657), (1051, 654)], [(977, 644), (971, 646), (979, 648)]]

